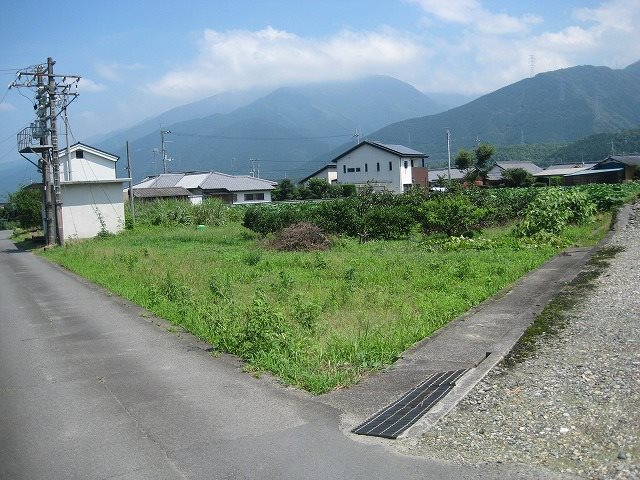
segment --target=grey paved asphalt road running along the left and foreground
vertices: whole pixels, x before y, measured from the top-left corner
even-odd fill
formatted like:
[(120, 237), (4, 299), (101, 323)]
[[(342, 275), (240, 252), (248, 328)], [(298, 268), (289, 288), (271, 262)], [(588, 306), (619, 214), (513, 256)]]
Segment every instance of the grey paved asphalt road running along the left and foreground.
[(1, 479), (540, 478), (402, 456), (0, 232)]

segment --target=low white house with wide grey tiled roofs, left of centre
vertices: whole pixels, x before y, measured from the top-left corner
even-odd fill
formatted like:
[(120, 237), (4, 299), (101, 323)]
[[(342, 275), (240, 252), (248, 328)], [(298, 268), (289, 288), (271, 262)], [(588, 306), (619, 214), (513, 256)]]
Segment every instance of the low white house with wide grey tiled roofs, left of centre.
[[(219, 198), (233, 205), (267, 203), (277, 183), (247, 175), (218, 172), (163, 173), (133, 186), (136, 198), (188, 198), (197, 204)], [(186, 193), (186, 195), (185, 195)]]

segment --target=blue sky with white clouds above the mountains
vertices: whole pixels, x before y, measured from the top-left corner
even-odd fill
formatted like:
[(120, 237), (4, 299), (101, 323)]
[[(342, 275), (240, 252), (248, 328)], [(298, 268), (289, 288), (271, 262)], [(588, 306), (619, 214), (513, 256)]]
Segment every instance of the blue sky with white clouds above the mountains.
[[(243, 89), (389, 75), (481, 95), (576, 65), (640, 60), (638, 0), (0, 0), (0, 172), (34, 119), (18, 70), (81, 76), (72, 141)], [(21, 160), (24, 161), (24, 160)]]

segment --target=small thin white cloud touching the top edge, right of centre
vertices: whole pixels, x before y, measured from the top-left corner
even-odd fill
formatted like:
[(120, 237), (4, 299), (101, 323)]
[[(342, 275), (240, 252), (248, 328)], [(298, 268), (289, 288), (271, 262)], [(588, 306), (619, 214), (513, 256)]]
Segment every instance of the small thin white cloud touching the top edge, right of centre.
[(468, 26), (485, 34), (503, 35), (523, 33), (542, 19), (533, 14), (515, 17), (505, 13), (492, 13), (479, 0), (407, 0), (418, 5), (425, 13), (445, 22)]

